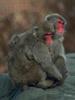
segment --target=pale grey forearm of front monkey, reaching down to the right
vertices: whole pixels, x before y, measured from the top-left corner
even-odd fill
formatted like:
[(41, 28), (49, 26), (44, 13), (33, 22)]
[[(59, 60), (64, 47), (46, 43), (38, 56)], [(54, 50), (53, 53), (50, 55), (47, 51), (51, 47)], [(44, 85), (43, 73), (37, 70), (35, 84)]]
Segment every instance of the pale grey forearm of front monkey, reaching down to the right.
[(37, 42), (32, 49), (32, 53), (34, 59), (41, 65), (43, 71), (45, 71), (49, 76), (62, 80), (62, 75), (53, 64), (48, 47), (44, 43)]

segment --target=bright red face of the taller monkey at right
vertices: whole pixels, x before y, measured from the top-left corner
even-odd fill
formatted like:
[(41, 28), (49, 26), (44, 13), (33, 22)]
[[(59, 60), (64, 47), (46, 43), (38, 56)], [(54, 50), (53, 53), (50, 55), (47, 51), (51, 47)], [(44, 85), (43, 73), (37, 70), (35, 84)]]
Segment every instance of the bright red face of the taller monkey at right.
[(58, 19), (57, 24), (56, 24), (56, 33), (58, 35), (64, 34), (64, 22), (60, 18)]

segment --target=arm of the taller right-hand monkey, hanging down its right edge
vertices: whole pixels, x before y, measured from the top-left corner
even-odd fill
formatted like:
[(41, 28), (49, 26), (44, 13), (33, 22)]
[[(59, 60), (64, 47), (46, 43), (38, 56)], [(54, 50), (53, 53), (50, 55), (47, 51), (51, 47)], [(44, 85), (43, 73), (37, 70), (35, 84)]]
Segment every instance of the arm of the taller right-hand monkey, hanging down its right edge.
[(63, 79), (65, 79), (68, 75), (68, 69), (66, 66), (66, 55), (65, 55), (65, 50), (62, 42), (58, 43), (58, 46), (55, 50), (56, 52), (56, 60), (55, 60), (55, 65), (62, 74)]

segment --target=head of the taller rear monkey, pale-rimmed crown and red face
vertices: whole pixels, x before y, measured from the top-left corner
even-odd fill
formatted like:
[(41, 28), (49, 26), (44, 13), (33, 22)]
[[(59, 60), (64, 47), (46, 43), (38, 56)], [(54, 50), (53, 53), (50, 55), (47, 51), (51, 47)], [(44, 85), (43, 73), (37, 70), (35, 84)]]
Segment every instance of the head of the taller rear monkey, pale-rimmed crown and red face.
[(44, 19), (46, 27), (48, 27), (49, 31), (55, 36), (63, 36), (66, 31), (66, 19), (57, 14), (49, 14)]

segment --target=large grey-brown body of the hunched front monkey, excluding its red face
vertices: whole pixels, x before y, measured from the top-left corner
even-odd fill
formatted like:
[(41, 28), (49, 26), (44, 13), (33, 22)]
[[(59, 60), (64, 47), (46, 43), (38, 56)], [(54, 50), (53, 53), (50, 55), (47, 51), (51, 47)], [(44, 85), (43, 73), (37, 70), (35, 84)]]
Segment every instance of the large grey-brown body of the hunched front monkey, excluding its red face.
[(17, 34), (9, 41), (8, 72), (13, 83), (21, 86), (33, 85), (43, 89), (52, 87), (54, 80), (62, 75), (52, 62), (48, 47), (32, 32)]

